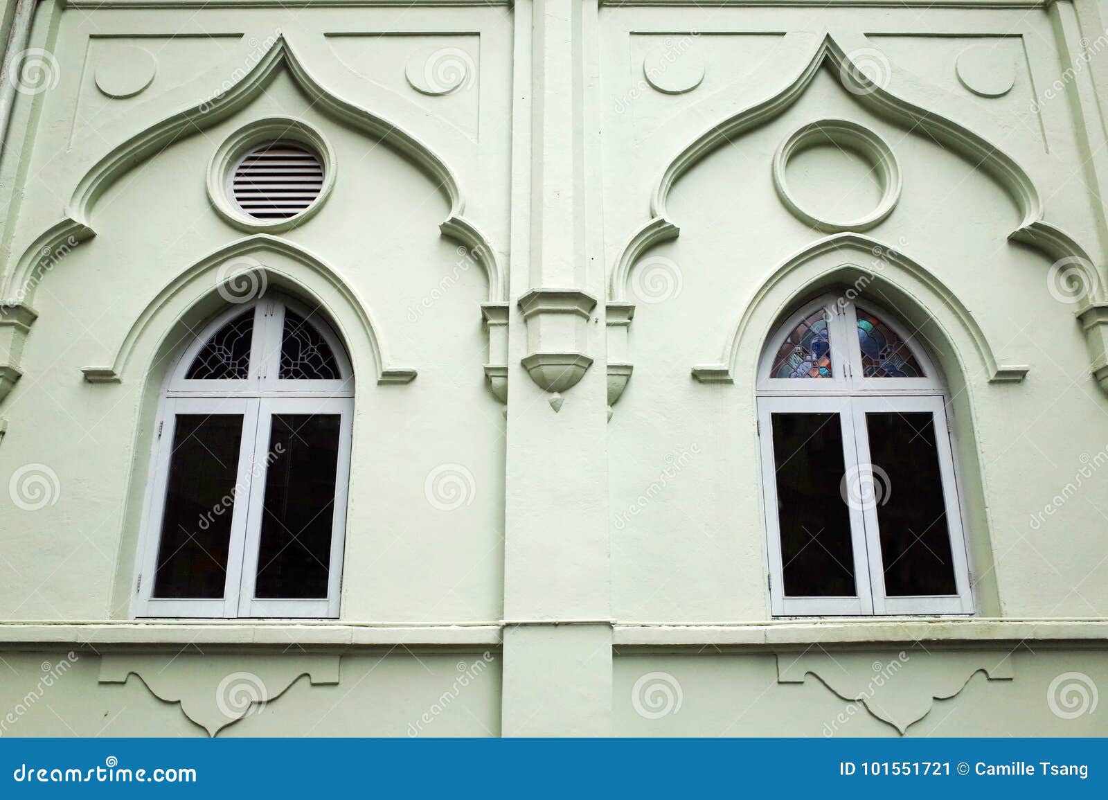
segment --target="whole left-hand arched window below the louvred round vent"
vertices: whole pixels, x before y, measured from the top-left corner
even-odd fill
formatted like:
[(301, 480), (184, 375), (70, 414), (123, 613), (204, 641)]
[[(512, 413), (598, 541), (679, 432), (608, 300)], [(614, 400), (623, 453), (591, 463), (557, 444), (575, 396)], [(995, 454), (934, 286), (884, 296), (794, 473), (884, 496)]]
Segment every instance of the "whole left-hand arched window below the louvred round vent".
[(337, 617), (353, 372), (319, 311), (267, 295), (162, 393), (136, 616)]

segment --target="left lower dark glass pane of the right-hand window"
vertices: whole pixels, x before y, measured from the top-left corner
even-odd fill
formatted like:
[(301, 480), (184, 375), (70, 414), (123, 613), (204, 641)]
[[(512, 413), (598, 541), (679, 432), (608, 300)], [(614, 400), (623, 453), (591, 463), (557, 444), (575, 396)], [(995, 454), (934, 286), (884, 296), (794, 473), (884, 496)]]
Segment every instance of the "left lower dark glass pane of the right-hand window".
[(837, 413), (772, 414), (784, 594), (853, 597), (850, 512)]

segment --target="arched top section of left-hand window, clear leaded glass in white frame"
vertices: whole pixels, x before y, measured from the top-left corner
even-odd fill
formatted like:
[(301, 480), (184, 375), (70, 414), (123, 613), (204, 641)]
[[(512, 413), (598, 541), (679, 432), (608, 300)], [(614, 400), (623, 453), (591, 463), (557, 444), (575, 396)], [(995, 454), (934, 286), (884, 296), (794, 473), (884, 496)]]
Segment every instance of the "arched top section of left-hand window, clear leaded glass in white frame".
[(346, 348), (320, 309), (265, 296), (225, 310), (174, 368), (170, 394), (350, 394)]

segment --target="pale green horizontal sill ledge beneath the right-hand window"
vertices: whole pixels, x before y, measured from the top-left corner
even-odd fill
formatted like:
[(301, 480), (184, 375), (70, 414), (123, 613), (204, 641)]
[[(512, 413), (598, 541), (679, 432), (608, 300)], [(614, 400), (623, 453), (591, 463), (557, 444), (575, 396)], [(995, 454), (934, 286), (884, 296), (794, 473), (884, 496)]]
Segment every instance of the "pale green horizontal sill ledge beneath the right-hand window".
[(1073, 642), (1108, 648), (1108, 619), (896, 619), (772, 620), (663, 625), (617, 623), (613, 644), (625, 647), (731, 646), (759, 649), (914, 642), (983, 644)]

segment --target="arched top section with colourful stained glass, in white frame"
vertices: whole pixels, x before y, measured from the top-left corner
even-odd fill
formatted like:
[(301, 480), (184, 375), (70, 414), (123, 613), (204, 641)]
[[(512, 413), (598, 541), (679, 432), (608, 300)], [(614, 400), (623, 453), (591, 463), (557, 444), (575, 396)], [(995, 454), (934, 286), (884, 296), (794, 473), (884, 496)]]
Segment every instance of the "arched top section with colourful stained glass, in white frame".
[(895, 316), (824, 295), (784, 318), (767, 339), (758, 370), (767, 392), (942, 393), (942, 377)]

